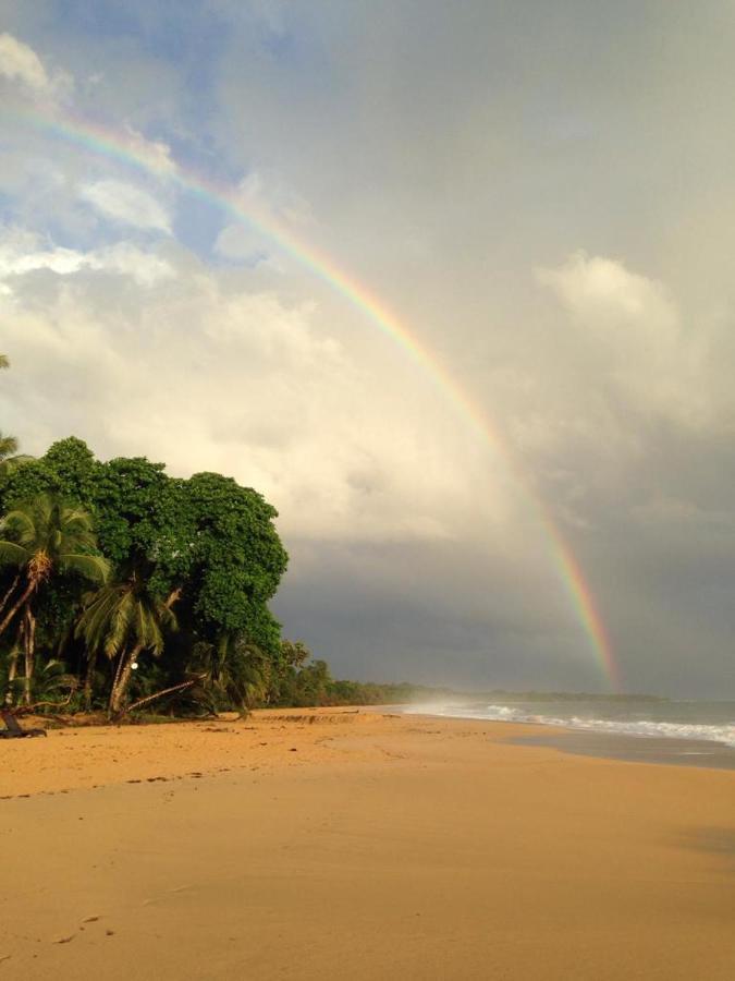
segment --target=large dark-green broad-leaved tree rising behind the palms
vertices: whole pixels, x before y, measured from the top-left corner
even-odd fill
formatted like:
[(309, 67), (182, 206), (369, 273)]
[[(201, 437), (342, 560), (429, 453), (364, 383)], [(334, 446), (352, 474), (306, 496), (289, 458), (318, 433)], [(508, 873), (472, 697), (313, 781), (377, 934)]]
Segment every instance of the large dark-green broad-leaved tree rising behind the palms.
[[(241, 701), (241, 681), (254, 692), (264, 671), (270, 677), (265, 663), (280, 657), (281, 631), (269, 602), (287, 556), (273, 523), (275, 509), (260, 494), (216, 473), (174, 479), (163, 464), (145, 458), (101, 462), (81, 439), (72, 437), (0, 480), (0, 513), (45, 495), (77, 501), (94, 518), (98, 549), (109, 560), (118, 601), (132, 590), (155, 608), (156, 604), (166, 606), (173, 594), (179, 596), (175, 610), (181, 630), (168, 633), (160, 658), (145, 658), (136, 689), (147, 691), (154, 679), (161, 688), (175, 687), (193, 674), (206, 674), (205, 665), (201, 671), (194, 668), (201, 662), (194, 656), (197, 644), (215, 652), (218, 678), (229, 675), (236, 680), (234, 687), (224, 686), (229, 694), (220, 691), (222, 702), (231, 697)], [(3, 595), (10, 590), (9, 603), (17, 598), (11, 579), (8, 572), (0, 576), (0, 618), (4, 615)], [(112, 593), (115, 585), (109, 588)], [(86, 628), (77, 629), (81, 614), (85, 625), (91, 616), (87, 616), (88, 603), (85, 606), (79, 586), (78, 580), (69, 577), (44, 586), (38, 642), (50, 656), (75, 661), (77, 674), (86, 669), (84, 690), (91, 701), (93, 689), (108, 669), (106, 658), (98, 659), (105, 641), (99, 637), (87, 640)], [(112, 593), (107, 597), (110, 616)], [(101, 597), (99, 603), (97, 611), (101, 613)], [(135, 643), (128, 643), (112, 658), (114, 680), (108, 680), (120, 706), (135, 677), (128, 656), (134, 647)], [(261, 652), (261, 658), (245, 655), (244, 647)], [(5, 652), (12, 656), (10, 638)], [(102, 670), (96, 670), (98, 667)], [(110, 698), (106, 688), (108, 702)]]

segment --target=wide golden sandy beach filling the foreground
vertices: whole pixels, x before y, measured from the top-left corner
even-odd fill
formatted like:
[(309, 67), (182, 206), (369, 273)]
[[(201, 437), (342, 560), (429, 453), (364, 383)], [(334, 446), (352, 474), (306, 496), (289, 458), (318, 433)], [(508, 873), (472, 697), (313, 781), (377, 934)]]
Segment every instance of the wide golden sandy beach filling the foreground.
[(0, 977), (735, 977), (735, 772), (350, 710), (0, 741)]

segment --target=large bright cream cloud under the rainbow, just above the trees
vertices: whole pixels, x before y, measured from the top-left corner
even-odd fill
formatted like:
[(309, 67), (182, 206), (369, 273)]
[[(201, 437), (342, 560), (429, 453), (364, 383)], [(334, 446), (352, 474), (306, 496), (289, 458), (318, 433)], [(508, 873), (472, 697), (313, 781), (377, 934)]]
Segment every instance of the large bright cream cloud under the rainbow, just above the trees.
[[(23, 378), (3, 411), (28, 450), (74, 432), (102, 456), (232, 473), (272, 500), (281, 529), (298, 537), (446, 537), (469, 513), (476, 464), (463, 461), (463, 438), (433, 395), (427, 441), (420, 379), (409, 409), (409, 379), (376, 390), (314, 304), (225, 290), (200, 267), (180, 269), (175, 290), (159, 281), (145, 294), (124, 277), (97, 281), (97, 264), (140, 259), (121, 247), (86, 259), (69, 250), (3, 258), (5, 275), (75, 270), (42, 291), (0, 295), (0, 308), (12, 310), (9, 385)], [(487, 501), (493, 496), (488, 488)]]

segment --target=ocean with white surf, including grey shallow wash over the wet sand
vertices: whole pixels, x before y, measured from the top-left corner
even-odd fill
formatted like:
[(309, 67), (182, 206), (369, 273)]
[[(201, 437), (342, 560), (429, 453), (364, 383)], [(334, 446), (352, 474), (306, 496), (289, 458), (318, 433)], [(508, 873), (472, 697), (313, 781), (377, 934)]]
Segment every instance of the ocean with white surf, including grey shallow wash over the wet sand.
[[(409, 713), (550, 726), (549, 734), (519, 741), (568, 752), (735, 767), (735, 701), (554, 699), (492, 697), (425, 703)], [(559, 729), (564, 731), (560, 732)]]

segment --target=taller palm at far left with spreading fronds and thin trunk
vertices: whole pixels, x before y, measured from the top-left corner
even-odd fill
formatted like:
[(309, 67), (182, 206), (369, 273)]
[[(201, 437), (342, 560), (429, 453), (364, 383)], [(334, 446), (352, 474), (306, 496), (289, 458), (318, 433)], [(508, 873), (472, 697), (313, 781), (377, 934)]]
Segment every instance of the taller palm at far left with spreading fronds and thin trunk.
[(16, 594), (0, 621), (0, 634), (20, 614), (25, 650), (24, 701), (30, 702), (36, 618), (34, 600), (39, 588), (59, 572), (77, 572), (103, 582), (107, 559), (94, 555), (97, 540), (87, 511), (51, 494), (20, 505), (0, 521), (0, 564), (20, 570)]

